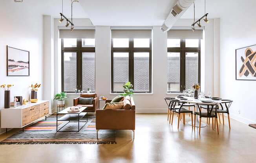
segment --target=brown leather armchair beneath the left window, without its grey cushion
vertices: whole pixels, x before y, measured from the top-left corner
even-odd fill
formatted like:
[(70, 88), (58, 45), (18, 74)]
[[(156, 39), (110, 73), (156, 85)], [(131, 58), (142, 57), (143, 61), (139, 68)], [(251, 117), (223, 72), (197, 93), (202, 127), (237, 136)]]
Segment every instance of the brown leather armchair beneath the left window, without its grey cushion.
[[(99, 97), (97, 97), (96, 93), (84, 93), (80, 94), (80, 97), (83, 98), (93, 98), (91, 105), (80, 105), (78, 104), (79, 97), (73, 99), (73, 106), (84, 106), (88, 107), (88, 112), (95, 112), (95, 110), (99, 109)], [(87, 112), (87, 110), (86, 110)]]

